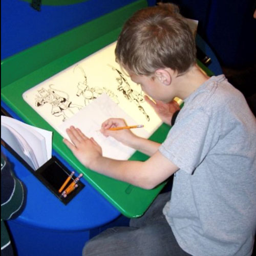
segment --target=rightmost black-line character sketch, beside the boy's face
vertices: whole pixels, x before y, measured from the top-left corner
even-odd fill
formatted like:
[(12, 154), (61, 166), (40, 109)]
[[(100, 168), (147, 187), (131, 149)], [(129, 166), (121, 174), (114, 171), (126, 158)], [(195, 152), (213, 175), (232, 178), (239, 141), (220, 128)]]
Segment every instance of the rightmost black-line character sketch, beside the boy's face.
[(150, 121), (150, 117), (147, 115), (147, 113), (145, 112), (143, 106), (141, 106), (140, 103), (144, 102), (144, 97), (142, 95), (142, 92), (139, 93), (137, 91), (134, 91), (129, 82), (127, 81), (127, 79), (124, 77), (124, 75), (122, 74), (121, 71), (119, 71), (118, 69), (116, 69), (115, 67), (109, 65), (112, 70), (115, 70), (119, 77), (116, 78), (117, 82), (118, 82), (118, 88), (117, 90), (122, 92), (123, 93), (123, 96), (131, 101), (131, 102), (134, 102), (137, 106), (138, 106), (138, 109), (143, 113), (143, 115), (145, 116), (146, 120), (147, 121)]

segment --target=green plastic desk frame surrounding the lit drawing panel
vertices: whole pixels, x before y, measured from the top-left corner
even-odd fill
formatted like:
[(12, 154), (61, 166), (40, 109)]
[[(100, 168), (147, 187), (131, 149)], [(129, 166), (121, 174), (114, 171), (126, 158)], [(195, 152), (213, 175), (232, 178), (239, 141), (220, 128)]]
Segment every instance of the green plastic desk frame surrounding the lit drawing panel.
[[(86, 169), (63, 144), (62, 137), (53, 130), (53, 127), (27, 105), (22, 98), (22, 94), (41, 81), (111, 44), (117, 39), (123, 22), (133, 12), (146, 6), (146, 1), (137, 1), (90, 23), (42, 42), (33, 48), (3, 60), (1, 63), (3, 74), (2, 100), (25, 122), (53, 131), (53, 149), (74, 169), (83, 173), (84, 178), (101, 195), (109, 200), (124, 216), (129, 218), (141, 216), (165, 183), (154, 189), (146, 190)], [(118, 22), (116, 22), (117, 20)], [(93, 30), (92, 33), (90, 33), (91, 30)], [(90, 38), (84, 39), (84, 34), (88, 33)], [(65, 42), (65, 47), (63, 42)], [(39, 61), (35, 63), (35, 59), (38, 58)], [(27, 67), (25, 67), (26, 65)], [(16, 72), (17, 70), (19, 72)], [(165, 138), (163, 134), (166, 135), (169, 128), (168, 125), (161, 125), (151, 139), (162, 142)], [(136, 152), (131, 157), (131, 160), (143, 161), (146, 159), (147, 156), (139, 152)]]

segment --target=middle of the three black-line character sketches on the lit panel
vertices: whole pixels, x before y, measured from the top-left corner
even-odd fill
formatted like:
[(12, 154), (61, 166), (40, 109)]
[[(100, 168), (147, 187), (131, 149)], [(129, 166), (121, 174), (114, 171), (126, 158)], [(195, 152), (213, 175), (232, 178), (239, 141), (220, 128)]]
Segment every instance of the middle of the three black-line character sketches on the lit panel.
[(103, 88), (89, 87), (88, 83), (87, 83), (86, 73), (84, 72), (82, 67), (77, 65), (74, 68), (73, 72), (75, 72), (76, 70), (80, 70), (80, 73), (83, 76), (83, 81), (78, 82), (78, 84), (77, 84), (78, 91), (76, 93), (76, 96), (78, 96), (78, 97), (81, 95), (83, 96), (84, 105), (88, 105), (90, 103), (90, 101), (96, 99), (102, 93), (109, 95), (117, 104), (119, 103), (117, 95), (115, 95), (114, 92), (112, 92), (111, 90), (106, 89), (105, 87), (103, 87)]

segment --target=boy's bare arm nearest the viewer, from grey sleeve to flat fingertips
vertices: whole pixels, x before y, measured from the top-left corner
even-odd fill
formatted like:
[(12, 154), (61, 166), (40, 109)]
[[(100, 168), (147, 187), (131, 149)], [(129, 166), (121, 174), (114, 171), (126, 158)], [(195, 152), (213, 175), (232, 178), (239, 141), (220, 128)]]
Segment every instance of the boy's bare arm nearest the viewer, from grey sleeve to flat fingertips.
[(73, 144), (66, 139), (64, 142), (84, 166), (114, 179), (152, 189), (178, 170), (159, 151), (145, 162), (114, 160), (103, 157), (101, 147), (79, 129), (72, 127), (67, 133)]

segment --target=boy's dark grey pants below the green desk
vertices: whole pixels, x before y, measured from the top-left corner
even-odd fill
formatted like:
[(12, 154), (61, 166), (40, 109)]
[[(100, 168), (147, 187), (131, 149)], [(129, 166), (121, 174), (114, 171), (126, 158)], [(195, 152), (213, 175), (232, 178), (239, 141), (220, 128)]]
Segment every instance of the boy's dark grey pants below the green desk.
[(162, 214), (170, 193), (160, 194), (145, 214), (131, 219), (130, 227), (106, 229), (84, 246), (83, 256), (188, 256)]

